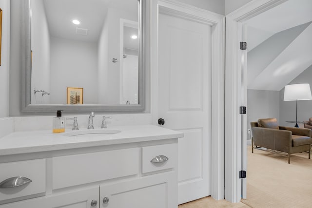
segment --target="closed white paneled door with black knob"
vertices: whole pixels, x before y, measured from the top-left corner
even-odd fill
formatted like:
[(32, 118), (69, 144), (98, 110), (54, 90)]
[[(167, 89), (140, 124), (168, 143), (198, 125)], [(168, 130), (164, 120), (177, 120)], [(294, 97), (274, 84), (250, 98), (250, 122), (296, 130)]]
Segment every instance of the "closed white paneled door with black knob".
[(178, 141), (178, 204), (210, 195), (211, 26), (159, 14), (158, 115)]

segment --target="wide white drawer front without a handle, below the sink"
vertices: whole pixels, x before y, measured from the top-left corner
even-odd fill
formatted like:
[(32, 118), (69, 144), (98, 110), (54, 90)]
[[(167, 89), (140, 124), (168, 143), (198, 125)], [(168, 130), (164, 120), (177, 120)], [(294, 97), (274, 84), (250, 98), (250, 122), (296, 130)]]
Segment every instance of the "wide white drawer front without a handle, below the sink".
[(139, 148), (59, 156), (52, 165), (53, 189), (135, 175)]

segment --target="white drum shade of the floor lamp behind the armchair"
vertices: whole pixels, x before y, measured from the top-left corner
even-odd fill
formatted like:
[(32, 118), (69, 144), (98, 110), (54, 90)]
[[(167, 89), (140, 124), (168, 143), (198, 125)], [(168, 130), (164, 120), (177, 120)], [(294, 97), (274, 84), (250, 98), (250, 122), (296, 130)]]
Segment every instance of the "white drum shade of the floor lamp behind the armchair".
[(285, 86), (284, 100), (312, 100), (310, 84), (291, 84)]

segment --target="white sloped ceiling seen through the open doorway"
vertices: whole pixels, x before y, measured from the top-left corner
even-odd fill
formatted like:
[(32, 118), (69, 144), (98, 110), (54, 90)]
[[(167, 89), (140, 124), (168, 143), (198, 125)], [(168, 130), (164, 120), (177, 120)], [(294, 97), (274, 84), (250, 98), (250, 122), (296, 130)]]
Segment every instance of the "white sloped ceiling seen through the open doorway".
[(248, 89), (280, 91), (312, 65), (312, 0), (288, 0), (248, 20)]

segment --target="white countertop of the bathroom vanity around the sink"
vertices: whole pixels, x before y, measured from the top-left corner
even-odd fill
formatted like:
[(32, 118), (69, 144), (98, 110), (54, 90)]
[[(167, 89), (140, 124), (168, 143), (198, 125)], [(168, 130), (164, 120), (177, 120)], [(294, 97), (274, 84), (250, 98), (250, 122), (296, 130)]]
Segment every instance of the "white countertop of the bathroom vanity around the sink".
[[(0, 155), (153, 141), (180, 138), (184, 135), (182, 132), (154, 125), (112, 126), (107, 128), (107, 130), (118, 130), (121, 132), (103, 136), (92, 134), (65, 136), (68, 132), (75, 132), (71, 129), (66, 129), (64, 133), (52, 133), (52, 130), (13, 132), (0, 138)], [(88, 130), (80, 129), (78, 131)]]

